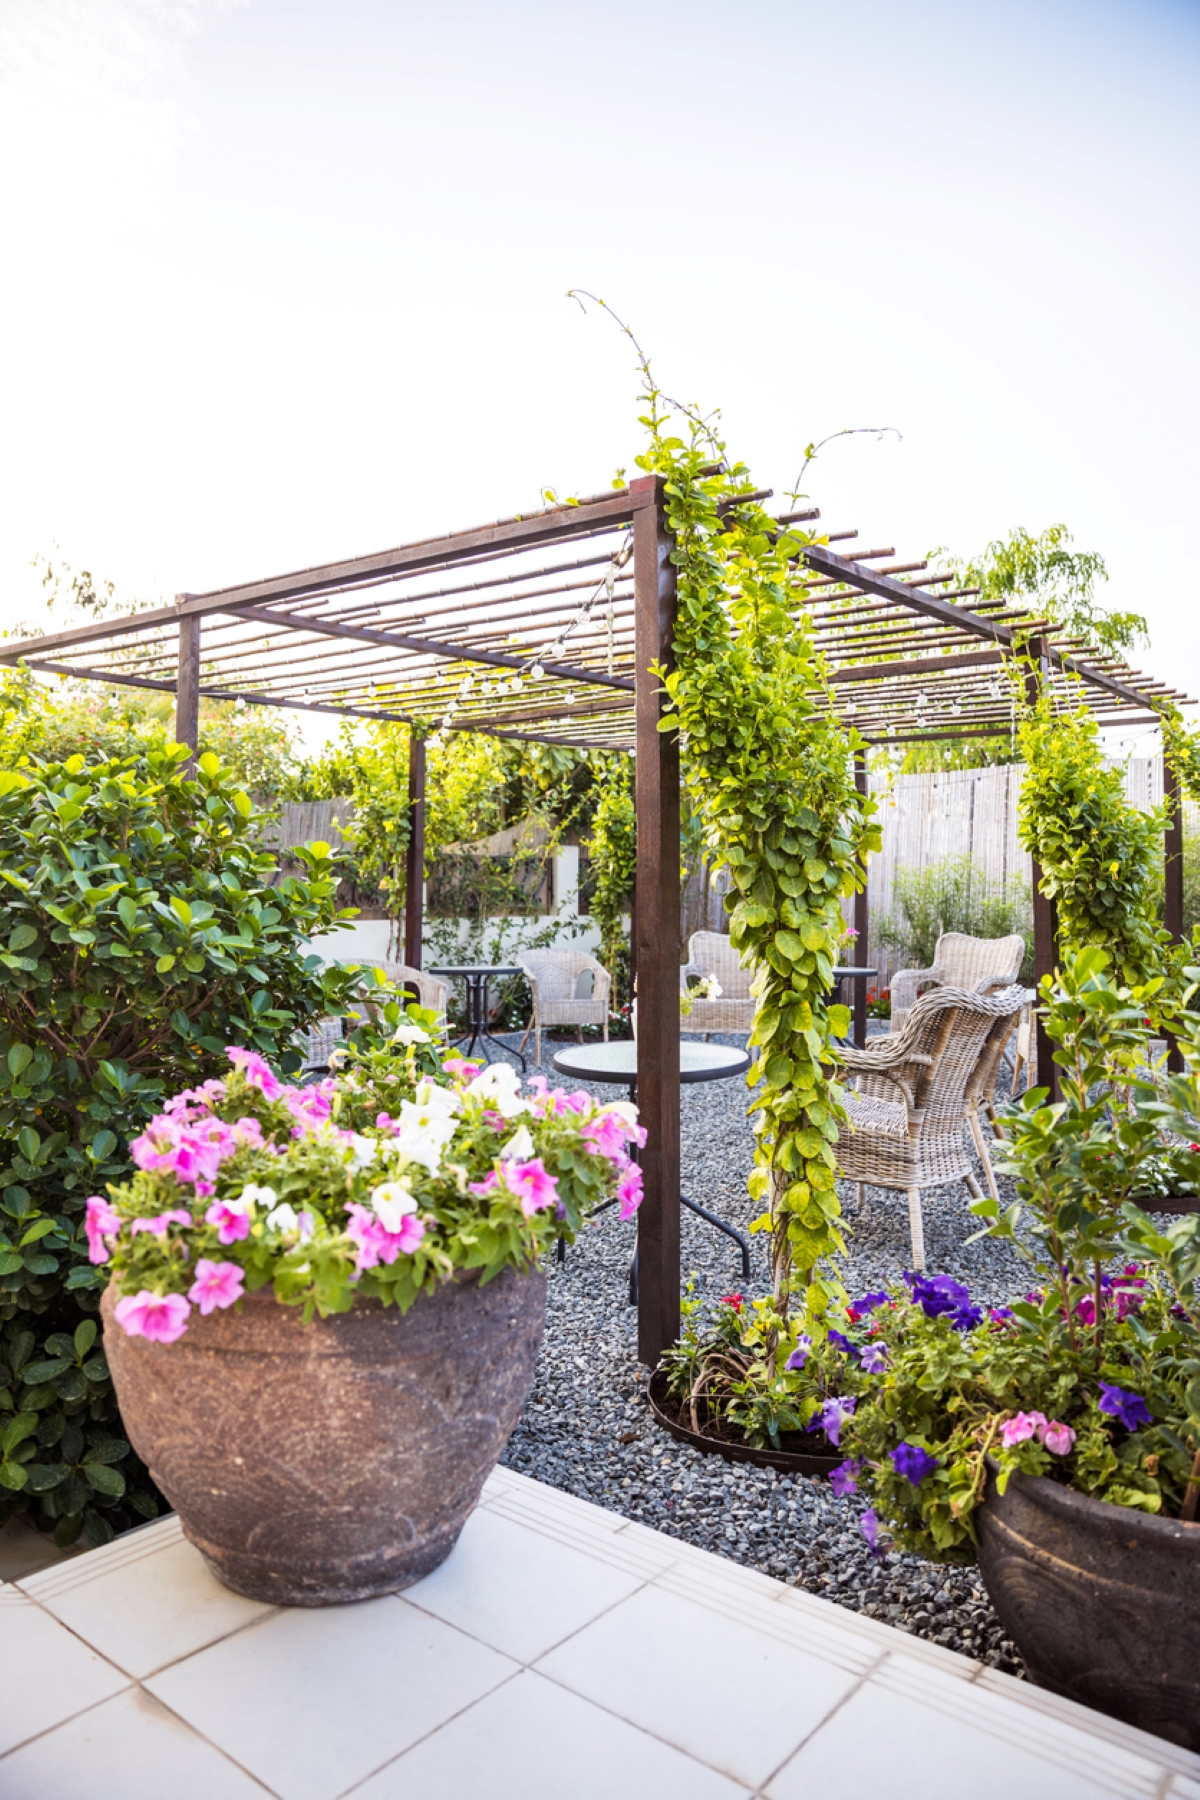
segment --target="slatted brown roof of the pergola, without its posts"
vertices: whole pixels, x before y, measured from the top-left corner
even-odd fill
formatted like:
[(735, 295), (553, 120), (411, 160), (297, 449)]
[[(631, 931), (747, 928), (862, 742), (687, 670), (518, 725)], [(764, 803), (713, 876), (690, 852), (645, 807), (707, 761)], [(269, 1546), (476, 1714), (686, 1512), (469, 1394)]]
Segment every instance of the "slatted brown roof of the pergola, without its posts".
[[(768, 495), (756, 495), (768, 499)], [(820, 531), (819, 513), (781, 515)], [(838, 715), (871, 743), (1011, 725), (1004, 661), (1038, 641), (1043, 684), (1101, 724), (1151, 724), (1186, 697), (979, 599), (923, 558), (831, 531), (795, 560)], [(200, 693), (255, 706), (631, 751), (635, 617), (630, 490), (477, 531), (302, 569), (173, 607), (9, 643), (0, 661), (175, 691), (200, 634)]]

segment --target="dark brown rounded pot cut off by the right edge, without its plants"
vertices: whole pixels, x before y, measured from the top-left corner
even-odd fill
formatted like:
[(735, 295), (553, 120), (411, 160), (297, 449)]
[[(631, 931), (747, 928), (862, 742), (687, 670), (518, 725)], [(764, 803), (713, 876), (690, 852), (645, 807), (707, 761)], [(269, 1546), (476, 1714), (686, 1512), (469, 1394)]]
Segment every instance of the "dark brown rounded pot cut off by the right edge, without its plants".
[(995, 1471), (979, 1568), (1038, 1687), (1200, 1750), (1200, 1525)]

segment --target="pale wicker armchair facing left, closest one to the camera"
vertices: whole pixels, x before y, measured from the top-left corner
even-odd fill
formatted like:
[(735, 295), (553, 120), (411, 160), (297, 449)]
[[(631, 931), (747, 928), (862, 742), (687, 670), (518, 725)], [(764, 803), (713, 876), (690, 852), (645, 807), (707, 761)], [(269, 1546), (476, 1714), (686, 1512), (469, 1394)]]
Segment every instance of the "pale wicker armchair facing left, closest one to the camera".
[(936, 988), (916, 1001), (891, 1037), (865, 1049), (838, 1046), (842, 1069), (858, 1076), (856, 1091), (846, 1096), (838, 1170), (858, 1183), (860, 1202), (865, 1183), (909, 1195), (916, 1269), (925, 1267), (921, 1188), (964, 1181), (975, 1199), (982, 1199), (963, 1127), (979, 1093), (984, 1048), (993, 1031), (1006, 1026), (1011, 1033), (1027, 999), (1025, 988), (1016, 986), (1000, 994)]

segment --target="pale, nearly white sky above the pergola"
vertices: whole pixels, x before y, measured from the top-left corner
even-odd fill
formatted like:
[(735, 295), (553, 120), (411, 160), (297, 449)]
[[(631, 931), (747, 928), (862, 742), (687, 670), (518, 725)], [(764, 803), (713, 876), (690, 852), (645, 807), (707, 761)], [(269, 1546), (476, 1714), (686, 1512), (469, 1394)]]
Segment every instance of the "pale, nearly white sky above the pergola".
[[(1065, 520), (1200, 693), (1200, 5), (0, 0), (0, 625), (608, 486), (622, 311), (831, 529)], [(1198, 715), (1193, 715), (1200, 722)]]

